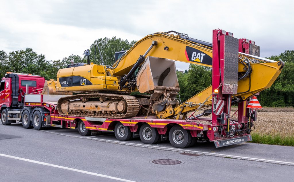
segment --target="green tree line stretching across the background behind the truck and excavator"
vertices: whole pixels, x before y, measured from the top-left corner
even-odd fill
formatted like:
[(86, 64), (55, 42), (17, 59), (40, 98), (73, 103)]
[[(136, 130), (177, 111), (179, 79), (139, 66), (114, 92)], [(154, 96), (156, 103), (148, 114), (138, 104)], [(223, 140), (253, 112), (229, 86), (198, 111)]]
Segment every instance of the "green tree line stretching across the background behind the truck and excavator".
[[(115, 62), (114, 53), (122, 49), (130, 49), (136, 41), (129, 42), (121, 38), (107, 37), (97, 39), (89, 47), (91, 62), (112, 65)], [(102, 59), (98, 52), (101, 51)], [(95, 51), (96, 49), (96, 51)], [(95, 54), (96, 53), (96, 54)], [(285, 66), (272, 87), (260, 92), (258, 100), (262, 106), (284, 107), (294, 106), (294, 50), (287, 50), (280, 55), (268, 57), (275, 61), (285, 62)], [(0, 76), (6, 72), (31, 73), (41, 75), (46, 80), (55, 79), (59, 69), (67, 64), (87, 62), (86, 57), (70, 55), (58, 60), (47, 60), (44, 54), (37, 54), (31, 48), (11, 52), (0, 51)], [(211, 85), (211, 68), (190, 64), (189, 69), (178, 71), (181, 100), (185, 101), (196, 93)]]

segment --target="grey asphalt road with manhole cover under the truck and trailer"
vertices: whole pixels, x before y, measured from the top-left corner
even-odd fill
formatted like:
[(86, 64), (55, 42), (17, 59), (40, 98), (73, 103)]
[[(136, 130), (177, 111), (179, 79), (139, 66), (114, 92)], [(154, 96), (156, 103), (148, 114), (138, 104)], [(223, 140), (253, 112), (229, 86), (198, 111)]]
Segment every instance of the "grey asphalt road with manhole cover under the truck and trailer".
[[(44, 132), (24, 129), (19, 124), (0, 124), (0, 181), (293, 182), (294, 179), (294, 166), (183, 155), (183, 152), (96, 139), (116, 141), (111, 132), (81, 137), (77, 130), (71, 129), (49, 128)], [(142, 144), (140, 140), (128, 143)], [(154, 146), (172, 148), (169, 143)], [(197, 143), (186, 150), (294, 162), (294, 147), (244, 143), (216, 149), (213, 143)], [(156, 159), (174, 159), (181, 164), (152, 163)]]

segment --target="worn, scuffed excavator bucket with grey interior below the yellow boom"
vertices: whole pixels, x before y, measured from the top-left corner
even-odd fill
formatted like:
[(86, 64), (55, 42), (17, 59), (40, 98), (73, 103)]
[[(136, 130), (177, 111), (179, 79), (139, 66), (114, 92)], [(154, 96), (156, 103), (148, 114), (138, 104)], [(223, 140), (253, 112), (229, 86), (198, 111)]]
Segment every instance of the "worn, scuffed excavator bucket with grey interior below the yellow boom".
[(148, 56), (137, 74), (136, 84), (140, 93), (153, 90), (178, 92), (175, 61)]

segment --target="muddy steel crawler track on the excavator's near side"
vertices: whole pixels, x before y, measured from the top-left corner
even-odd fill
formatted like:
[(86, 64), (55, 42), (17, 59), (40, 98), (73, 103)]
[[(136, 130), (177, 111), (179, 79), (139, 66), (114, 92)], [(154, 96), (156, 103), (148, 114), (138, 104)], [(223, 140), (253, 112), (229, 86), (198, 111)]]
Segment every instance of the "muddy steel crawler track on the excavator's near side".
[[(62, 111), (62, 104), (64, 102), (71, 103), (71, 100), (78, 99), (90, 99), (90, 98), (106, 98), (106, 99), (115, 99), (125, 101), (127, 104), (127, 110), (125, 113), (93, 113), (91, 111), (88, 112), (80, 112), (80, 113), (71, 113), (67, 110), (67, 113)], [(86, 102), (85, 102), (86, 103)], [(117, 95), (117, 94), (103, 94), (103, 93), (95, 93), (95, 94), (78, 94), (71, 95), (67, 97), (61, 97), (57, 102), (57, 110), (62, 115), (75, 116), (75, 117), (93, 117), (93, 118), (131, 118), (138, 114), (140, 110), (140, 105), (136, 97), (131, 95)]]

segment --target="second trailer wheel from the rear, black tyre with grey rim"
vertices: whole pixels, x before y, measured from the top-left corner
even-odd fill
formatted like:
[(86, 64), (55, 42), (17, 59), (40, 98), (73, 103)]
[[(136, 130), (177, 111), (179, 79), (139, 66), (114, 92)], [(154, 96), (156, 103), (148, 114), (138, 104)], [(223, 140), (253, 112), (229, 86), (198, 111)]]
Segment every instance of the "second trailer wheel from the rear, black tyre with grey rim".
[(158, 131), (145, 123), (140, 128), (140, 139), (145, 144), (157, 143), (159, 140)]

